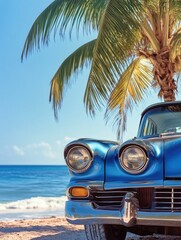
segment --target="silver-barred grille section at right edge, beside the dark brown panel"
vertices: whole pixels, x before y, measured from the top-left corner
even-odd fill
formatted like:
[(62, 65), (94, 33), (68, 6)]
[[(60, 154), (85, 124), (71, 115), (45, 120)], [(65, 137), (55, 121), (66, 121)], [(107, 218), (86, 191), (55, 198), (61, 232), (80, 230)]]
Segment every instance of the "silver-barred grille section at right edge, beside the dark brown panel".
[(181, 212), (180, 188), (155, 188), (155, 210)]

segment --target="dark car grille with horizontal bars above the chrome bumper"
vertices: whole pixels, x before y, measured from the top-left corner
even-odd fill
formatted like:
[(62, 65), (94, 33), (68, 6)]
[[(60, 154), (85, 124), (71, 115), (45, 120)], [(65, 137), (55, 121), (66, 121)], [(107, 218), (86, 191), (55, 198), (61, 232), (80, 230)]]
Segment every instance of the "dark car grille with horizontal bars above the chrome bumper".
[(90, 199), (97, 209), (119, 210), (127, 192), (138, 198), (140, 210), (181, 212), (181, 188), (91, 190)]

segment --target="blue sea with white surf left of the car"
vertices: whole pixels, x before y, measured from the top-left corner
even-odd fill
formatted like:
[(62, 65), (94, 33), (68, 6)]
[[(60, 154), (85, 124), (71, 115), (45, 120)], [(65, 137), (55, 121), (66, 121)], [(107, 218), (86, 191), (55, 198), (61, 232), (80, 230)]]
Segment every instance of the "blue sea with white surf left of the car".
[(64, 216), (66, 166), (0, 166), (0, 220)]

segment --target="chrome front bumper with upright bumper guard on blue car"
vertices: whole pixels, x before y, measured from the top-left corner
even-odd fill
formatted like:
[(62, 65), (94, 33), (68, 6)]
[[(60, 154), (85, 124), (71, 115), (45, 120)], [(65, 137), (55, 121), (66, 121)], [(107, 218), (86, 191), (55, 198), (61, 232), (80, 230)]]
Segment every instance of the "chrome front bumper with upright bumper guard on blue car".
[(95, 209), (89, 201), (67, 201), (65, 214), (68, 222), (73, 224), (120, 224), (126, 227), (135, 225), (181, 226), (181, 213), (179, 212), (139, 211), (138, 200), (131, 192), (126, 194), (120, 211)]

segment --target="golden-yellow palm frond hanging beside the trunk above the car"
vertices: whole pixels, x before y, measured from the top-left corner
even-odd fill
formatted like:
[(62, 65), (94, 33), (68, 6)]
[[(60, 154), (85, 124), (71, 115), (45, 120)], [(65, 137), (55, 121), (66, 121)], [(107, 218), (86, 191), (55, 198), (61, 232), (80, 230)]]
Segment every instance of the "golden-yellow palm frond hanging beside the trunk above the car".
[(113, 115), (114, 125), (117, 126), (117, 133), (120, 131), (120, 124), (125, 130), (127, 111), (132, 111), (133, 106), (138, 104), (145, 96), (146, 91), (151, 87), (153, 80), (153, 66), (149, 59), (142, 57), (136, 58), (120, 77), (117, 85), (112, 91), (107, 111), (106, 119), (109, 120)]

